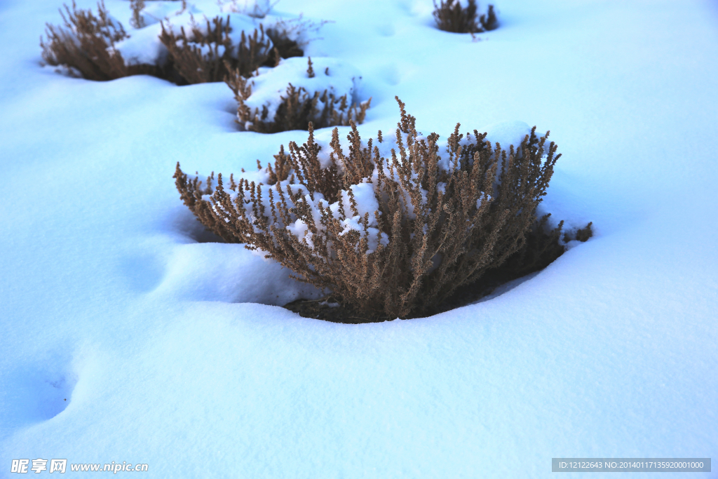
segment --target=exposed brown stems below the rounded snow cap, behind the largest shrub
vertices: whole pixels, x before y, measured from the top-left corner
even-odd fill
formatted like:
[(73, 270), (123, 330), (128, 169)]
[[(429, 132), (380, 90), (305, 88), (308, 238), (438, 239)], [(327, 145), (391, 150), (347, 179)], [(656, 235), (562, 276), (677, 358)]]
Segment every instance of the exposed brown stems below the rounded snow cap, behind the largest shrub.
[[(308, 59), (307, 75), (314, 77), (312, 59)], [(281, 103), (276, 108), (274, 118), (269, 118), (269, 108), (264, 105), (262, 110), (252, 110), (245, 103), (252, 94), (251, 78), (244, 78), (238, 71), (230, 68), (225, 82), (234, 93), (237, 101), (237, 122), (247, 131), (257, 133), (276, 133), (289, 130), (308, 130), (309, 124), (314, 128), (327, 126), (348, 126), (352, 122), (361, 124), (370, 107), (371, 98), (360, 104), (350, 103), (348, 95), (337, 98), (334, 93), (324, 90), (309, 93), (303, 87), (296, 88), (292, 83), (281, 96)]]

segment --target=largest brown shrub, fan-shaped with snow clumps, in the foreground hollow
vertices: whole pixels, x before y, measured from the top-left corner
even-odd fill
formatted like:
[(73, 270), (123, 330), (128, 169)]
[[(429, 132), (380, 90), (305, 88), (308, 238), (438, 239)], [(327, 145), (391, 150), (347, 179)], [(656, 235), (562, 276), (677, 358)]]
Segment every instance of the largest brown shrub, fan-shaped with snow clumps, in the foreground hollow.
[[(264, 251), (369, 315), (431, 311), (506, 261), (535, 270), (537, 259), (563, 251), (561, 224), (546, 234), (548, 216), (536, 218), (560, 157), (548, 133), (538, 138), (534, 127), (507, 152), (476, 130), (460, 134), (457, 124), (442, 157), (439, 135), (419, 134), (396, 99), (393, 144), (381, 131), (376, 144), (364, 144), (351, 123), (348, 154), (337, 129), (320, 154), (310, 124), (307, 142), (282, 147), (264, 181), (230, 176), (225, 185), (219, 175), (202, 188), (177, 164), (177, 189), (225, 241)], [(528, 248), (527, 238), (536, 244)]]

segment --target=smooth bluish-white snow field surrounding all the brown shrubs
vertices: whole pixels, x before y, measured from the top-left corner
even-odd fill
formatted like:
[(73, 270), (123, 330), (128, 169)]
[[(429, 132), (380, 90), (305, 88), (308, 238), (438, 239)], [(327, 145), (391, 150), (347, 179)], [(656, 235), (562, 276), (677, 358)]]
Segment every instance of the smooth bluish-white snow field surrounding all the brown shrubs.
[[(488, 300), (341, 325), (277, 307), (316, 292), (204, 242), (172, 180), (177, 161), (256, 169), (306, 132), (238, 131), (224, 83), (43, 68), (60, 0), (0, 1), (0, 477), (22, 458), (146, 463), (151, 478), (542, 478), (552, 457), (716, 460), (718, 6), (495, 3), (500, 28), (479, 41), (436, 29), (431, 0), (274, 6), (334, 22), (305, 55), (360, 72), (364, 139), (396, 129), (395, 95), (442, 138), (457, 121), (550, 129), (563, 157), (544, 209), (594, 224)], [(131, 34), (129, 2), (106, 4)], [(629, 477), (590, 477), (604, 476)]]

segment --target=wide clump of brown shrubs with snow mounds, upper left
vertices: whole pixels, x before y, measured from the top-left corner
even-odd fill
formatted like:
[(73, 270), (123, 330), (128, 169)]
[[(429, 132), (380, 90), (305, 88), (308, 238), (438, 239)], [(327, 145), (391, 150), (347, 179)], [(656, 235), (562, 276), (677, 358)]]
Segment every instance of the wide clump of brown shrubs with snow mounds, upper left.
[(97, 16), (73, 1), (60, 10), (64, 26), (47, 24), (47, 39), (40, 39), (42, 57), (88, 80), (154, 75), (180, 85), (218, 82), (228, 74), (226, 65), (250, 76), (261, 65), (273, 67), (282, 58), (302, 56), (307, 32), (318, 28), (301, 17), (259, 22), (248, 14), (229, 13), (197, 20), (195, 13), (201, 11), (196, 6), (179, 3), (132, 0), (129, 22), (134, 29), (128, 34), (102, 1)]

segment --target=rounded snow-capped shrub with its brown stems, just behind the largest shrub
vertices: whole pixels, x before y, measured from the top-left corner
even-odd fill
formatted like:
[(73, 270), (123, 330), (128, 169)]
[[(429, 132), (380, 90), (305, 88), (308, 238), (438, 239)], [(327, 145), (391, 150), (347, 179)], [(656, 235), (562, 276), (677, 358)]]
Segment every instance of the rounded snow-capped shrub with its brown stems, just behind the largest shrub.
[[(307, 66), (308, 65), (308, 66)], [(314, 66), (319, 65), (317, 70)], [(286, 85), (286, 78), (292, 79)], [(348, 65), (329, 58), (282, 60), (244, 78), (230, 70), (225, 79), (238, 104), (237, 121), (247, 131), (276, 133), (362, 123), (370, 106), (355, 101), (360, 76)]]

